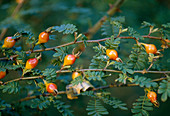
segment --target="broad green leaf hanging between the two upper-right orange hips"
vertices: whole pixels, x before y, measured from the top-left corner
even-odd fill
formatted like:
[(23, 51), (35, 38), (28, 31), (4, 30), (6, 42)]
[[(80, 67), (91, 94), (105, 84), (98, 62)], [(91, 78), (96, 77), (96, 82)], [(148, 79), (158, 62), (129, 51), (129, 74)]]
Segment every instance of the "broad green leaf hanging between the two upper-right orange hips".
[(148, 54), (138, 45), (135, 44), (133, 51), (129, 55), (127, 65), (132, 69), (144, 69), (148, 61)]

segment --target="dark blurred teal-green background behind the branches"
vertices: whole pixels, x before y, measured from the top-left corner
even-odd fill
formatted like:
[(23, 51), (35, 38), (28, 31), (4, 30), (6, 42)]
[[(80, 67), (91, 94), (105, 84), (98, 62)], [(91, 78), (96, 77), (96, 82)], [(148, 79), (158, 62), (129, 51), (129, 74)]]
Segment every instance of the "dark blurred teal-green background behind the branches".
[[(4, 27), (9, 28), (5, 37), (14, 35), (20, 30), (31, 30), (35, 36), (50, 26), (61, 25), (71, 23), (76, 25), (79, 33), (87, 32), (87, 30), (93, 26), (103, 15), (106, 14), (109, 9), (109, 4), (115, 3), (116, 0), (26, 0), (23, 7), (15, 16), (14, 19), (10, 19), (10, 15), (15, 9), (17, 3), (15, 0), (0, 0), (0, 29)], [(125, 16), (126, 21), (124, 26), (131, 26), (136, 29), (141, 34), (147, 34), (148, 29), (141, 29), (141, 23), (143, 21), (151, 22), (156, 24), (158, 27), (161, 24), (166, 24), (170, 22), (170, 1), (169, 0), (125, 0), (121, 5), (120, 10), (114, 16)], [(113, 17), (114, 17), (113, 16)], [(66, 42), (73, 41), (72, 35), (63, 36), (58, 33), (53, 34), (53, 39), (51, 39), (46, 47), (57, 46)], [(99, 30), (92, 39), (103, 38), (101, 31)], [(24, 40), (21, 40), (16, 44), (16, 47), (21, 46), (23, 50), (28, 50), (28, 45), (24, 44)], [(120, 57), (126, 61), (130, 51), (131, 46), (134, 41), (122, 40), (119, 49)], [(153, 40), (147, 39), (145, 42), (153, 43)], [(154, 42), (157, 48), (160, 48), (160, 41), (155, 40)], [(96, 44), (90, 44), (86, 50), (83, 52), (81, 57), (76, 61), (74, 66), (88, 68), (92, 56), (95, 55), (93, 46)], [(70, 52), (76, 47), (73, 45), (70, 47)], [(38, 49), (36, 47), (35, 49)], [(45, 69), (46, 67), (53, 67), (51, 64), (52, 55), (54, 52), (43, 52), (42, 61), (38, 64), (36, 68)], [(161, 63), (165, 64), (165, 69), (168, 68), (167, 59), (169, 58), (168, 50), (164, 52), (165, 57), (161, 59)], [(49, 57), (50, 56), (50, 57)], [(31, 56), (30, 56), (31, 57)], [(57, 68), (57, 67), (56, 67)], [(20, 74), (15, 71), (9, 71), (9, 74), (3, 81), (14, 79), (19, 77)], [(147, 77), (152, 79), (159, 78), (163, 75), (147, 74)], [(113, 75), (114, 77), (114, 75)], [(117, 75), (115, 75), (117, 77)], [(67, 82), (71, 80), (71, 74), (61, 75), (60, 78), (66, 78)], [(107, 78), (109, 82), (114, 82), (115, 78)], [(59, 90), (65, 90), (67, 83), (57, 81)], [(24, 82), (21, 85), (24, 86)], [(27, 95), (27, 93), (34, 89), (31, 85), (25, 86), (22, 90), (22, 94), (2, 94), (0, 93), (1, 99), (6, 100), (7, 103), (19, 100)], [(122, 87), (122, 88), (111, 88), (108, 89), (111, 95), (119, 98), (123, 102), (127, 103), (128, 111), (121, 111), (119, 109), (113, 109), (110, 106), (105, 105), (109, 111), (110, 116), (130, 116), (132, 113), (130, 109), (132, 108), (132, 103), (135, 102), (140, 95), (144, 95), (144, 91), (139, 87)], [(86, 106), (90, 99), (89, 97), (80, 96), (77, 100), (68, 100), (66, 95), (62, 95), (62, 101), (66, 104), (71, 105), (71, 109), (74, 110), (76, 116), (82, 115), (86, 116)], [(168, 99), (165, 103), (161, 102), (160, 95), (158, 95), (158, 101), (160, 102), (159, 108), (154, 108), (153, 112), (150, 112), (151, 116), (160, 116), (163, 114), (169, 114), (170, 100)], [(18, 109), (19, 111), (19, 109)], [(19, 111), (20, 112), (20, 111)], [(27, 108), (26, 112), (20, 112), (23, 116), (26, 115), (61, 115), (57, 109), (50, 106), (48, 109), (43, 111), (36, 111)]]

